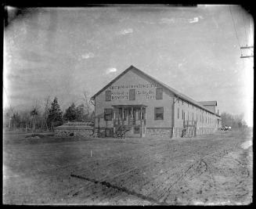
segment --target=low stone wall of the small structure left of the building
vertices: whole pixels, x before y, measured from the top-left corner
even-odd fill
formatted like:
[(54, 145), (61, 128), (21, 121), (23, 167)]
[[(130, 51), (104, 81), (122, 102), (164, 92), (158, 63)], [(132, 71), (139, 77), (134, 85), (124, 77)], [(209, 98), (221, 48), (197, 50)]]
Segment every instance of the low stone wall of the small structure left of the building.
[(67, 136), (82, 136), (90, 137), (93, 135), (93, 128), (55, 128), (56, 136), (67, 137)]

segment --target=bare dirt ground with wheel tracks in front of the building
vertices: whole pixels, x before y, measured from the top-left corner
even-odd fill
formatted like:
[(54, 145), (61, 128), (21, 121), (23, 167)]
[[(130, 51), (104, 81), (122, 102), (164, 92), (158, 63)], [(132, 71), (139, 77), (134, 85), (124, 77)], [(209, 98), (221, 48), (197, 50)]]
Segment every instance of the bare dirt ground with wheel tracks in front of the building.
[(3, 204), (252, 202), (252, 132), (190, 139), (26, 138), (4, 133)]

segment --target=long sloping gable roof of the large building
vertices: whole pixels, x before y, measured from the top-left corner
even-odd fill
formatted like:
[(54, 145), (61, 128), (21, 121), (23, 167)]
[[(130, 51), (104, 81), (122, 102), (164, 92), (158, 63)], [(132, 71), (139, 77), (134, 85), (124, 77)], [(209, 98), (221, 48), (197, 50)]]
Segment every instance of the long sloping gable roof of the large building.
[[(115, 77), (112, 81), (110, 81), (110, 83), (108, 85), (106, 85), (105, 87), (103, 87), (102, 89), (99, 90), (99, 92), (97, 92), (95, 95), (92, 95), (91, 99), (95, 99), (97, 95), (99, 95), (101, 92), (103, 92), (106, 88), (108, 88), (110, 85), (112, 85), (115, 81), (117, 81), (120, 77), (122, 77), (124, 74), (126, 74), (129, 70), (135, 70), (137, 73), (144, 75), (145, 77), (149, 77), (151, 80), (155, 81), (157, 84), (159, 84), (160, 86), (162, 86), (163, 88), (167, 89), (168, 91), (174, 93), (178, 98), (181, 98), (183, 100), (185, 100), (186, 102), (192, 103), (195, 106), (200, 107), (203, 110), (206, 110), (207, 112), (210, 112), (211, 114), (215, 114), (214, 112), (212, 112), (211, 110), (208, 110), (207, 108), (205, 108), (203, 105), (201, 105), (200, 103), (198, 103), (197, 101), (189, 98), (189, 96), (182, 94), (181, 92), (178, 92), (177, 90), (175, 90), (174, 88), (171, 88), (170, 86), (164, 84), (161, 81), (157, 81), (156, 78), (151, 77), (149, 74), (144, 73), (142, 70), (139, 70), (138, 68), (134, 67), (134, 66), (130, 66), (128, 67), (126, 70), (124, 70), (121, 74), (119, 74), (117, 77)], [(217, 102), (216, 102), (217, 103)], [(219, 117), (218, 114), (215, 114), (216, 116)]]

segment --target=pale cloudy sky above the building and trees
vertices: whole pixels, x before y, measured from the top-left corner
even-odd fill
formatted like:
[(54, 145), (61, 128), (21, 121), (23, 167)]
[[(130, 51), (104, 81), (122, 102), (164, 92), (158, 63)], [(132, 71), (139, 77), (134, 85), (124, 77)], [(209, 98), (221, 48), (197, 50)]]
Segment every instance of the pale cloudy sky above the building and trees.
[(240, 5), (8, 7), (3, 107), (25, 110), (57, 96), (65, 110), (131, 65), (220, 114), (253, 124), (254, 20)]

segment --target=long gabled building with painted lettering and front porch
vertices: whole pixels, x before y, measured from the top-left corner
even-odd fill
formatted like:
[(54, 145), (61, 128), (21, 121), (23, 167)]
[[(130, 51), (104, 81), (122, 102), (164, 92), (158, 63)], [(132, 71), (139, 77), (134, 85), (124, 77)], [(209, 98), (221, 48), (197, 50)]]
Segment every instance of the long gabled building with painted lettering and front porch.
[(221, 127), (217, 102), (204, 106), (131, 66), (92, 96), (99, 137), (181, 137)]

